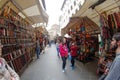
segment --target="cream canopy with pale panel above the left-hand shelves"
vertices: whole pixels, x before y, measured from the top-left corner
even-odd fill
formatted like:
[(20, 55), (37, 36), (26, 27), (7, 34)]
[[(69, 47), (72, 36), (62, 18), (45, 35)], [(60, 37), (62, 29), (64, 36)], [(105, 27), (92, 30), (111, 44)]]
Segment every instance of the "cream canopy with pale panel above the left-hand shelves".
[(28, 18), (33, 24), (48, 23), (48, 15), (42, 0), (1, 0), (4, 4), (11, 2), (19, 9), (18, 14)]

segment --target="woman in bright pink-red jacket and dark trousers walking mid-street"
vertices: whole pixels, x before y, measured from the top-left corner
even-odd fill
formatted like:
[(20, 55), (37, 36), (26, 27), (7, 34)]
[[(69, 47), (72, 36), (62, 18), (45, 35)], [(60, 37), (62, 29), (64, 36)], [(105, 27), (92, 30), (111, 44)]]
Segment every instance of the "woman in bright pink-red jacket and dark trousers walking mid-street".
[(67, 49), (67, 44), (66, 44), (66, 38), (64, 37), (61, 37), (60, 39), (59, 50), (60, 50), (60, 55), (63, 61), (62, 69), (63, 69), (63, 72), (65, 72), (66, 60), (68, 57), (68, 49)]

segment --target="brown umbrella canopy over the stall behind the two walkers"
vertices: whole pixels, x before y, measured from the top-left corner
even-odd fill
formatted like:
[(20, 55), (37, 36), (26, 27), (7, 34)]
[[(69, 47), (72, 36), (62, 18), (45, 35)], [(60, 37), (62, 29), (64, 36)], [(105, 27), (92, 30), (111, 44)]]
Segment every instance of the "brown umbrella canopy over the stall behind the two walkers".
[(62, 30), (64, 30), (63, 32), (65, 33), (68, 33), (70, 29), (77, 31), (80, 29), (81, 24), (85, 26), (87, 33), (90, 34), (100, 33), (99, 26), (96, 23), (94, 23), (91, 19), (89, 19), (87, 16), (70, 18), (69, 23)]

